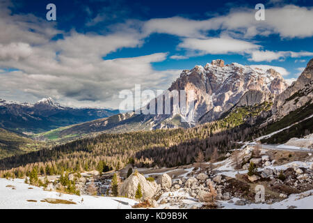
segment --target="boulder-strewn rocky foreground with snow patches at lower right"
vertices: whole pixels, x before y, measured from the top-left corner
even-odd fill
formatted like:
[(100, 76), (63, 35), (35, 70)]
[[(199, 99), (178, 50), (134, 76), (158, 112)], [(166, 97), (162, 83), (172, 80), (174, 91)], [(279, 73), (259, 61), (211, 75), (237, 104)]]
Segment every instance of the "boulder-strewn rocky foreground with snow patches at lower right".
[[(115, 199), (111, 178), (118, 174), (119, 197), (129, 200), (122, 208), (313, 208), (310, 149), (277, 148), (280, 149), (246, 145), (227, 153), (220, 162), (150, 169), (129, 164), (102, 176), (90, 171), (79, 178), (70, 174), (69, 178), (76, 180), (80, 196)], [(127, 178), (129, 168), (134, 171)], [(49, 176), (48, 180), (46, 192), (62, 191), (59, 176)], [(141, 185), (140, 199), (136, 198), (138, 184)], [(264, 188), (263, 200), (256, 199), (256, 188), (260, 185)]]

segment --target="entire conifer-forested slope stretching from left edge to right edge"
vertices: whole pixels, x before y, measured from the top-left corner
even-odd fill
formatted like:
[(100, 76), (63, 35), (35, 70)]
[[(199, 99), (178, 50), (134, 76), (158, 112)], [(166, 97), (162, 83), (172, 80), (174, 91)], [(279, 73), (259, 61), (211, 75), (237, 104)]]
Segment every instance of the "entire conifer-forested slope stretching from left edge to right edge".
[[(0, 160), (6, 176), (24, 176), (35, 167), (42, 174), (61, 174), (63, 171), (93, 169), (120, 169), (128, 162), (137, 167), (175, 167), (195, 162), (199, 151), (204, 160), (223, 160), (229, 150), (239, 148), (240, 141), (257, 139), (264, 134), (280, 130), (312, 115), (312, 104), (291, 112), (284, 119), (259, 127), (271, 105), (237, 107), (225, 118), (195, 128), (100, 134), (95, 138), (79, 139), (67, 144)], [(265, 114), (265, 115), (264, 115)], [(298, 134), (305, 134), (298, 129)], [(310, 131), (306, 129), (303, 131)], [(274, 134), (281, 141), (279, 134)], [(16, 168), (18, 167), (18, 168)]]

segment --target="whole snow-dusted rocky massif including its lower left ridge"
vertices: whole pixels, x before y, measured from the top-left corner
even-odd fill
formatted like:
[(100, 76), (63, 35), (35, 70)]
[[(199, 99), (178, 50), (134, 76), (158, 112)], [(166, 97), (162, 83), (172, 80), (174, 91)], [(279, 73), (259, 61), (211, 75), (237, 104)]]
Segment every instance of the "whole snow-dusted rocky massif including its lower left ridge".
[[(248, 94), (246, 102), (242, 103), (254, 105), (268, 98), (275, 98), (275, 95), (282, 93), (287, 86), (282, 76), (273, 69), (262, 70), (239, 63), (225, 65), (223, 60), (218, 59), (204, 67), (195, 66), (191, 70), (183, 70), (168, 89), (170, 92), (184, 90), (187, 98), (191, 95), (190, 92), (193, 92), (194, 107), (192, 103), (187, 103), (186, 109), (182, 110), (171, 104), (170, 114), (148, 116), (146, 119), (152, 129), (192, 127), (198, 123), (215, 121), (221, 114), (234, 107), (247, 91), (251, 91), (252, 95)], [(259, 95), (258, 91), (263, 95)], [(173, 101), (172, 95), (164, 97)], [(149, 105), (145, 109), (148, 107)], [(177, 117), (186, 122), (177, 125), (177, 121), (173, 121)]]

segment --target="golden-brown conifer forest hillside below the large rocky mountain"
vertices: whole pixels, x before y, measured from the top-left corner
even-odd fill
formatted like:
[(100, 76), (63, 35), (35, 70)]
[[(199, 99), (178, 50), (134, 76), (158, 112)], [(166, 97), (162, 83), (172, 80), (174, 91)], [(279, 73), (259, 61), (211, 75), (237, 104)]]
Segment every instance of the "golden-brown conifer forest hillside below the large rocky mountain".
[[(219, 153), (238, 145), (251, 132), (244, 124), (252, 116), (269, 109), (267, 103), (254, 107), (239, 107), (225, 118), (195, 128), (101, 134), (95, 138), (79, 139), (70, 143), (25, 155), (17, 155), (0, 161), (2, 169), (26, 165), (52, 167), (56, 171), (69, 169), (82, 171), (96, 169), (99, 162), (118, 169), (129, 159), (138, 166), (175, 166), (194, 162), (199, 150), (209, 160), (214, 150)], [(170, 151), (168, 155), (160, 150)], [(143, 152), (145, 151), (145, 152)], [(175, 152), (172, 152), (175, 151)]]

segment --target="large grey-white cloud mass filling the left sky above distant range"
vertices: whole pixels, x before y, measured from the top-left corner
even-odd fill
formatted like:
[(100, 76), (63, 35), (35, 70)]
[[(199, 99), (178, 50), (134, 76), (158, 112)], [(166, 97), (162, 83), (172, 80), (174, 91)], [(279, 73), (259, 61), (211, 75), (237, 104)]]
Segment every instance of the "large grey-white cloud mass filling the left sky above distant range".
[[(143, 36), (134, 29), (95, 33), (64, 33), (52, 23), (33, 15), (14, 15), (0, 10), (0, 68), (15, 68), (0, 75), (1, 98), (23, 101), (51, 96), (64, 105), (118, 107), (118, 93), (141, 84), (167, 89), (179, 70), (158, 71), (151, 63), (167, 53), (104, 60), (103, 56), (123, 47), (138, 47)], [(31, 21), (31, 22), (26, 22)], [(32, 31), (29, 31), (29, 30)], [(4, 31), (3, 31), (4, 30)], [(27, 95), (27, 97), (25, 97)]]

